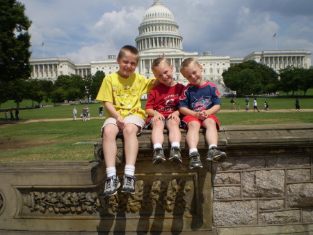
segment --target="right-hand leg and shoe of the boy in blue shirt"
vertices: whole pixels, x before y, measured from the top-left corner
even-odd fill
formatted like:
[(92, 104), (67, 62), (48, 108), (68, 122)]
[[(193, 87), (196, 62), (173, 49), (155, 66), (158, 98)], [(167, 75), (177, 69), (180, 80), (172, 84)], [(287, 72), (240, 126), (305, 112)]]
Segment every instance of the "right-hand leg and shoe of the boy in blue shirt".
[(226, 160), (226, 153), (218, 149), (218, 130), (216, 127), (216, 121), (214, 119), (206, 119), (203, 121), (203, 127), (205, 131), (205, 141), (209, 145), (209, 151), (207, 152), (207, 162), (219, 162)]

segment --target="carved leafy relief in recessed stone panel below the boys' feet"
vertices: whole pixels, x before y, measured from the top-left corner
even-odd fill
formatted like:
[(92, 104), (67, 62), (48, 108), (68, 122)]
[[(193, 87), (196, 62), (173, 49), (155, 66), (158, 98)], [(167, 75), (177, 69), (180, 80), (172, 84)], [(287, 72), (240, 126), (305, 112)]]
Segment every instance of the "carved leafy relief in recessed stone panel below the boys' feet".
[[(170, 179), (170, 178), (169, 178)], [(144, 184), (143, 180), (136, 181), (136, 193), (129, 195), (118, 192), (117, 195), (104, 197), (102, 188), (94, 192), (45, 192), (32, 191), (23, 195), (24, 205), (30, 213), (136, 213), (152, 211), (160, 206), (163, 211), (172, 213), (192, 213), (194, 196), (193, 177), (170, 179), (168, 181), (154, 180)], [(22, 211), (22, 213), (27, 213)]]

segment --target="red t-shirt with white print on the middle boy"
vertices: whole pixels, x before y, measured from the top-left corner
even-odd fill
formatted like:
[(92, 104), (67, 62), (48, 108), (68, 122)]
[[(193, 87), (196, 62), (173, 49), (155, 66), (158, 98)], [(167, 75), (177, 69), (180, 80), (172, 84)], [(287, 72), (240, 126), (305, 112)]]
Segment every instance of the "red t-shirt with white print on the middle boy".
[[(167, 117), (178, 109), (179, 96), (183, 89), (184, 85), (180, 83), (174, 86), (157, 84), (150, 90), (145, 109), (153, 109)], [(145, 122), (149, 123), (150, 119), (152, 116), (148, 116)]]

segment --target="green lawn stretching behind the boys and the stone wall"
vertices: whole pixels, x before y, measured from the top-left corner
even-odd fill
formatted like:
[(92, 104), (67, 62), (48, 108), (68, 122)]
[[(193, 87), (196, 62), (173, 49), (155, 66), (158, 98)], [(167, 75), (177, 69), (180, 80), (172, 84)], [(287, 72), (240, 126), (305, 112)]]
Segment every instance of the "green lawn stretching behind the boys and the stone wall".
[[(257, 98), (259, 109), (264, 101), (269, 104), (270, 112), (244, 112), (244, 98), (240, 112), (223, 112), (230, 109), (230, 98), (223, 98), (222, 112), (216, 114), (222, 126), (264, 125), (275, 123), (313, 123), (313, 112), (271, 112), (271, 109), (294, 109), (294, 98)], [(252, 98), (250, 98), (252, 107)], [(90, 104), (92, 117), (98, 116), (98, 104)], [(143, 106), (145, 102), (143, 102)], [(84, 105), (76, 105), (78, 114)], [(300, 98), (302, 109), (313, 109), (313, 98)], [(26, 109), (19, 113), (22, 121), (26, 119), (63, 119), (72, 118), (73, 105)], [(1, 117), (4, 116), (0, 113)], [(101, 139), (100, 128), (103, 120), (90, 121), (38, 121), (33, 123), (0, 122), (0, 164), (10, 161), (41, 160), (93, 160), (93, 144)], [(9, 125), (4, 125), (9, 123)], [(12, 125), (10, 125), (12, 124)]]

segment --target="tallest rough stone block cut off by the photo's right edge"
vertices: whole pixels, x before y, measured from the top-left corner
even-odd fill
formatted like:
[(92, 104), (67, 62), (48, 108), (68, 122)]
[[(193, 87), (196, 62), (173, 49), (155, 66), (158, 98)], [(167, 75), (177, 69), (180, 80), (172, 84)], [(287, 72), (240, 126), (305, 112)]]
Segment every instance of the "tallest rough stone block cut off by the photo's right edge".
[(313, 183), (294, 183), (287, 185), (287, 206), (313, 206)]

